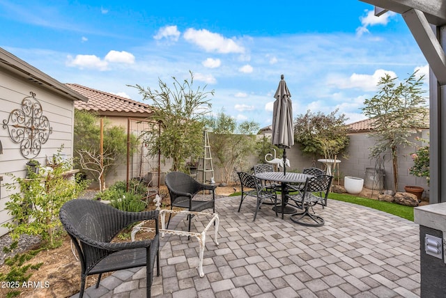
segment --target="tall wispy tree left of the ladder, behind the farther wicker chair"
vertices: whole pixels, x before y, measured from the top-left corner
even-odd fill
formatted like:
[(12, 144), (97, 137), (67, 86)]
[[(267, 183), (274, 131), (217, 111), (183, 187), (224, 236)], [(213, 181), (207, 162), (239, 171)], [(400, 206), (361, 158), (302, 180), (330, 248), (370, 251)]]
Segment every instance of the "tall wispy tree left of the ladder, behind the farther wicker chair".
[[(195, 158), (203, 150), (203, 117), (210, 112), (208, 95), (214, 91), (205, 91), (198, 87), (194, 90), (194, 75), (183, 82), (172, 77), (172, 87), (158, 80), (159, 90), (152, 90), (136, 85), (143, 100), (151, 100), (155, 123), (146, 131), (146, 145), (149, 155), (161, 153), (164, 161), (172, 159), (171, 171), (186, 171), (185, 160)], [(158, 123), (161, 132), (158, 133)]]

